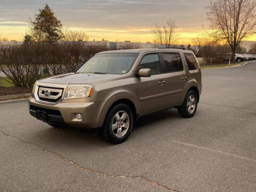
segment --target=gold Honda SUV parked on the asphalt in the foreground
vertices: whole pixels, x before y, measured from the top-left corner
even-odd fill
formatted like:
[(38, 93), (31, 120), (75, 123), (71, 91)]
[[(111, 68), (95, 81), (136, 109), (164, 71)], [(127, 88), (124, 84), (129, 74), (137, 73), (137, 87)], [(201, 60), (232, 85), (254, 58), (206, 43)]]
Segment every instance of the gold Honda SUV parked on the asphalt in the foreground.
[(194, 116), (201, 90), (192, 51), (105, 51), (75, 73), (38, 80), (29, 112), (54, 127), (100, 127), (105, 140), (121, 143), (139, 116), (173, 107), (182, 117)]

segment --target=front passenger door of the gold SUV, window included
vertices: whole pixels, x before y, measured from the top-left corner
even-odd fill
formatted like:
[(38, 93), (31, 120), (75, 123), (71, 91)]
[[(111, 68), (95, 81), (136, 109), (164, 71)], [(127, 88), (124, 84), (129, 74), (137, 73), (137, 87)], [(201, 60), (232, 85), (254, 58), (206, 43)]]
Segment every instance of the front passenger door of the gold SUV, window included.
[(150, 77), (137, 78), (138, 99), (141, 115), (152, 113), (167, 108), (165, 75), (161, 74), (161, 64), (158, 53), (150, 53), (143, 56), (138, 66), (139, 69), (151, 69)]

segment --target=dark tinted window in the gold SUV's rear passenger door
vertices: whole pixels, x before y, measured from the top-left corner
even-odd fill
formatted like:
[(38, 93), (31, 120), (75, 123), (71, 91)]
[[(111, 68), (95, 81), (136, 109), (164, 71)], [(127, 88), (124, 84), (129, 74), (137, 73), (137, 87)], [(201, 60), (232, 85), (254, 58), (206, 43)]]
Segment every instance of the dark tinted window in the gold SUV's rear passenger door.
[(163, 73), (183, 70), (179, 54), (163, 53), (163, 60)]

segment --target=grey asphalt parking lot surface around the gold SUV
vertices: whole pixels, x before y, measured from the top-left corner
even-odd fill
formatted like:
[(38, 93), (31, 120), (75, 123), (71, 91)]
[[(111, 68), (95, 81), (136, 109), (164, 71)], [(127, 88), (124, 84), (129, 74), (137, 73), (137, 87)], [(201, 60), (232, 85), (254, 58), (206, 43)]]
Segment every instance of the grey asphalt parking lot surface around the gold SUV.
[(0, 191), (256, 191), (256, 61), (202, 74), (193, 118), (141, 117), (121, 145), (0, 103)]

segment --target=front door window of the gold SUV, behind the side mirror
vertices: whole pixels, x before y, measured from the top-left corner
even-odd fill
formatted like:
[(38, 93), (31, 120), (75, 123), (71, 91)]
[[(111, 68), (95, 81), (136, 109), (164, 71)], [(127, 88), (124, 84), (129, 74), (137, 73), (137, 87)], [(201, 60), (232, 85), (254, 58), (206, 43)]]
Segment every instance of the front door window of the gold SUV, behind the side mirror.
[(158, 54), (145, 55), (140, 61), (139, 69), (151, 69), (151, 75), (160, 73), (160, 61)]

